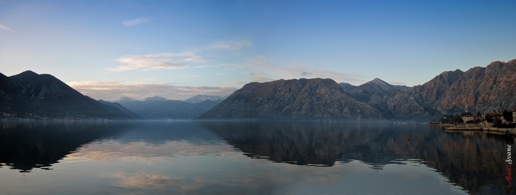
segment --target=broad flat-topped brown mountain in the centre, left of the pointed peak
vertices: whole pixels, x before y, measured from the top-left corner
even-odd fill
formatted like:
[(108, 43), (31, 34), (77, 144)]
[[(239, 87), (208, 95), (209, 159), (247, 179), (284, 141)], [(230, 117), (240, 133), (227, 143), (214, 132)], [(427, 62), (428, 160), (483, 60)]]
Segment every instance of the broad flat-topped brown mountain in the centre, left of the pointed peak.
[(384, 120), (366, 103), (348, 96), (331, 79), (252, 82), (198, 119)]

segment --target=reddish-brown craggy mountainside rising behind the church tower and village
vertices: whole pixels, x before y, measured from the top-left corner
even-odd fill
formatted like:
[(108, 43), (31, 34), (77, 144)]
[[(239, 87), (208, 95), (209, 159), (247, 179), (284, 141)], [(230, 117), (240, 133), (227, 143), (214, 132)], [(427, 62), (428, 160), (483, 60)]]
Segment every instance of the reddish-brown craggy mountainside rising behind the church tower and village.
[(443, 72), (407, 95), (430, 114), (456, 113), (464, 110), (482, 113), (516, 109), (516, 60), (492, 62), (487, 67), (473, 67)]

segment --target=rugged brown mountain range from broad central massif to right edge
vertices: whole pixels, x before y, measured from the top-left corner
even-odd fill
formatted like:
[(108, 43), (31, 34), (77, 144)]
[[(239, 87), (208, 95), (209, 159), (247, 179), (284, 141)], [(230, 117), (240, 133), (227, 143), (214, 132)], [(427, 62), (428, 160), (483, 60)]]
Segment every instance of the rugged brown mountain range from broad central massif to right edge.
[(447, 71), (423, 85), (374, 79), (359, 86), (331, 79), (292, 79), (244, 85), (198, 119), (429, 119), (516, 109), (516, 60), (466, 72)]

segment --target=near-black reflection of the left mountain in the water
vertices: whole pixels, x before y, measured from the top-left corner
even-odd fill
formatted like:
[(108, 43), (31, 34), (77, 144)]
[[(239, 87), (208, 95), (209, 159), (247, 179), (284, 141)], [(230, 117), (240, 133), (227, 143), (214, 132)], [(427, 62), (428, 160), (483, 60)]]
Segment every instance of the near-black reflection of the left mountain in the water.
[(0, 167), (20, 172), (51, 169), (84, 144), (124, 131), (127, 125), (80, 121), (7, 121), (0, 131)]

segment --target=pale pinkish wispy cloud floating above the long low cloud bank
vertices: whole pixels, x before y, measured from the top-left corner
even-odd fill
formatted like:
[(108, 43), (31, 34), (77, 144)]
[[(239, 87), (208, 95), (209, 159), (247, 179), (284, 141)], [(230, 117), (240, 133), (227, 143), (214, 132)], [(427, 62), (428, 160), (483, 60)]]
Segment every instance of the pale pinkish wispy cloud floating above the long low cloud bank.
[(123, 64), (107, 70), (120, 72), (126, 70), (160, 70), (182, 69), (190, 67), (191, 63), (204, 62), (205, 60), (195, 52), (186, 51), (179, 53), (159, 53), (148, 55), (127, 55), (116, 60)]

